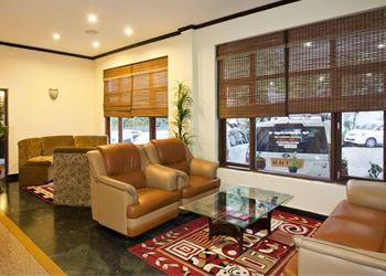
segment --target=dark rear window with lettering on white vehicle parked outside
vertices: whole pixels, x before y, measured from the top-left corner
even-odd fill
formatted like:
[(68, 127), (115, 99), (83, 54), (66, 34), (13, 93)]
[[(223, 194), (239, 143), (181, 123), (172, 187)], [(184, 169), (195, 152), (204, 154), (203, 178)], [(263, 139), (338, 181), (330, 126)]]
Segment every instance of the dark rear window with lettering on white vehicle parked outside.
[(258, 127), (257, 151), (329, 153), (324, 127), (304, 127), (302, 124), (278, 124)]

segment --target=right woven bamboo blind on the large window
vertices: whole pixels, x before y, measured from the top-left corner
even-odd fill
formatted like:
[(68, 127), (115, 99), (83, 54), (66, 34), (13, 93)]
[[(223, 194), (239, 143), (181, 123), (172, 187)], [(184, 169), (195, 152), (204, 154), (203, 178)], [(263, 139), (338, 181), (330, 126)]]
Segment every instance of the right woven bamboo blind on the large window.
[(386, 9), (289, 30), (288, 113), (386, 109)]

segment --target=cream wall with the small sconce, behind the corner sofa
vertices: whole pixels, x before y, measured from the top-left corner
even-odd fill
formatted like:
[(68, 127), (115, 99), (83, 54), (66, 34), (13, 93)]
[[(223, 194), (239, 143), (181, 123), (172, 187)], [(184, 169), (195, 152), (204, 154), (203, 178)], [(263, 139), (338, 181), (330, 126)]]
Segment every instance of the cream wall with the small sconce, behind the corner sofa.
[[(94, 132), (94, 62), (0, 46), (0, 88), (8, 88), (9, 173), (18, 173), (18, 141)], [(49, 88), (58, 88), (55, 102)]]

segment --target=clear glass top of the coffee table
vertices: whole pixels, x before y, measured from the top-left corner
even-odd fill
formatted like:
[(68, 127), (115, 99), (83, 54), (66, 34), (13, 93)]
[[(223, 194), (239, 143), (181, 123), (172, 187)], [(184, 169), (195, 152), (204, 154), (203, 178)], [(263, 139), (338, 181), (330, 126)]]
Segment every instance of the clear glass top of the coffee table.
[(181, 209), (246, 229), (293, 194), (235, 185), (182, 205)]

